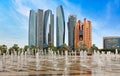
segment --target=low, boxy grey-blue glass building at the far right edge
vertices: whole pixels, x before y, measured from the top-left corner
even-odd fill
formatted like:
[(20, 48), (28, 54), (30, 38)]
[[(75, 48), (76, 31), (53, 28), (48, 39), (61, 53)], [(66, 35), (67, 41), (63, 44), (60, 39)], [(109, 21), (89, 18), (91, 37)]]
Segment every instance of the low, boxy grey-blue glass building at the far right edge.
[(106, 49), (120, 48), (120, 37), (119, 36), (103, 37), (103, 48), (106, 48)]

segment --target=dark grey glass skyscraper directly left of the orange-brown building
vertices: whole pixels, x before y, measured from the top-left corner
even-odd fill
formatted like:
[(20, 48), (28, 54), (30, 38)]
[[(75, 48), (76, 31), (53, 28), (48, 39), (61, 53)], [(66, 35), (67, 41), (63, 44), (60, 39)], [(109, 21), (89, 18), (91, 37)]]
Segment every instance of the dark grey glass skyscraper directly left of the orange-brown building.
[(68, 18), (68, 45), (74, 48), (74, 28), (76, 25), (76, 15), (70, 15)]

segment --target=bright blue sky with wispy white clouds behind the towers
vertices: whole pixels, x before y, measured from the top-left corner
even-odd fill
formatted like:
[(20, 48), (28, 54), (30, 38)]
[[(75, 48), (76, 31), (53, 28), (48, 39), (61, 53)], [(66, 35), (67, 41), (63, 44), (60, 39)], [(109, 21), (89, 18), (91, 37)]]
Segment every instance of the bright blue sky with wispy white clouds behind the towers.
[[(84, 18), (92, 22), (92, 44), (98, 48), (103, 47), (104, 36), (120, 36), (120, 0), (0, 0), (0, 45), (28, 45), (30, 10), (51, 9), (55, 20), (59, 5), (64, 9), (66, 44), (70, 14), (77, 15), (77, 20), (82, 22)], [(56, 23), (54, 25), (56, 29)], [(56, 44), (56, 30), (54, 34)]]

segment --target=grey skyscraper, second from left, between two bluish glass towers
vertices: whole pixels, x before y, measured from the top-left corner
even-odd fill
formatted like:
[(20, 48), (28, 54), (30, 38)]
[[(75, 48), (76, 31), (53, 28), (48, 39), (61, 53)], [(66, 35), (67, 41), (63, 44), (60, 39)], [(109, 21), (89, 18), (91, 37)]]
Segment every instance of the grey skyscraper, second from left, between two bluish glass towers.
[(37, 28), (36, 28), (36, 32), (37, 32), (37, 46), (38, 47), (43, 47), (43, 10), (38, 9), (37, 12)]

